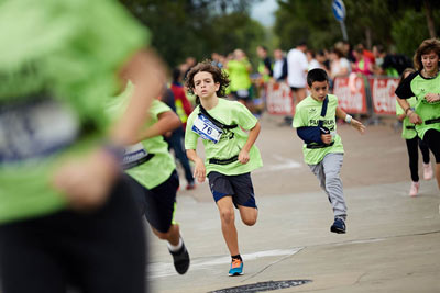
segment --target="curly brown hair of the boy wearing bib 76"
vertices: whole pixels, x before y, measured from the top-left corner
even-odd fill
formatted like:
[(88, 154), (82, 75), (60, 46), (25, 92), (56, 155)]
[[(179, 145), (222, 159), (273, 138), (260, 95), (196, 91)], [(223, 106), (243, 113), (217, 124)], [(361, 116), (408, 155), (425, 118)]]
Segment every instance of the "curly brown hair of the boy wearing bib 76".
[[(213, 82), (220, 83), (219, 90), (216, 92), (217, 97), (224, 97), (226, 95), (226, 90), (229, 87), (229, 83), (231, 82), (229, 80), (228, 74), (221, 70), (216, 65), (212, 65), (211, 60), (205, 60), (202, 63), (197, 64), (195, 67), (189, 70), (186, 80), (185, 80), (185, 86), (188, 89), (188, 91), (194, 94), (194, 76), (197, 75), (198, 72), (209, 72), (212, 75)], [(199, 103), (199, 98), (197, 97), (196, 100), (197, 103)]]

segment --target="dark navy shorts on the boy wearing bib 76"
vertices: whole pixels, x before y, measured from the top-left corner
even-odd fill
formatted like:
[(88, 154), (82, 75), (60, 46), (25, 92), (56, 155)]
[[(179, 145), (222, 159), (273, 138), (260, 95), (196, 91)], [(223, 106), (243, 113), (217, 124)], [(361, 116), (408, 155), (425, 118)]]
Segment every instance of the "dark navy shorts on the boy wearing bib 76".
[(212, 171), (208, 179), (216, 202), (224, 196), (232, 196), (235, 207), (243, 205), (256, 209), (251, 173), (226, 176)]

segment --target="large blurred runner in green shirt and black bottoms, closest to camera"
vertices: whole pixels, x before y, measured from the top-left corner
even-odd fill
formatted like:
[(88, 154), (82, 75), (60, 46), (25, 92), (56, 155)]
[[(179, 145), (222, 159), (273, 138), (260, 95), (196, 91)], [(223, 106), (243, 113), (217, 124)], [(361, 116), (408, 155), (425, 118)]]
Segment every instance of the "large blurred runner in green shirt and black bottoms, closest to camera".
[[(145, 292), (118, 158), (165, 79), (147, 32), (111, 0), (1, 1), (0, 27), (0, 291)], [(110, 124), (119, 72), (139, 86)]]

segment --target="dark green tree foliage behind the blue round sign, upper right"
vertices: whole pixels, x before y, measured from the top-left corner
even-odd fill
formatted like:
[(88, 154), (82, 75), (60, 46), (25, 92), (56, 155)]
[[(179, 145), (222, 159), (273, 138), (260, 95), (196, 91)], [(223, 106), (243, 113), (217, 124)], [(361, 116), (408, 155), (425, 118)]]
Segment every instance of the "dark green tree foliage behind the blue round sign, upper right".
[[(330, 48), (342, 40), (331, 0), (277, 0), (274, 34), (284, 49), (307, 41), (315, 49)], [(345, 26), (351, 44), (367, 47), (382, 44), (411, 55), (420, 42), (430, 37), (427, 15), (440, 16), (440, 2), (433, 0), (344, 0)], [(433, 23), (437, 35), (440, 22)]]

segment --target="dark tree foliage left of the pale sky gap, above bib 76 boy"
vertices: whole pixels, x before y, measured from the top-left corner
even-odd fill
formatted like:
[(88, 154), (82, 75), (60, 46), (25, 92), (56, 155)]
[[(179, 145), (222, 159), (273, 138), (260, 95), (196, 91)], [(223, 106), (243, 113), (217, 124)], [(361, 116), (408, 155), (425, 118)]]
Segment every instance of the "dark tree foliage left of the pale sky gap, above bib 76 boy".
[(260, 0), (120, 0), (152, 32), (152, 44), (170, 65), (240, 47), (252, 54), (265, 29), (249, 15)]

